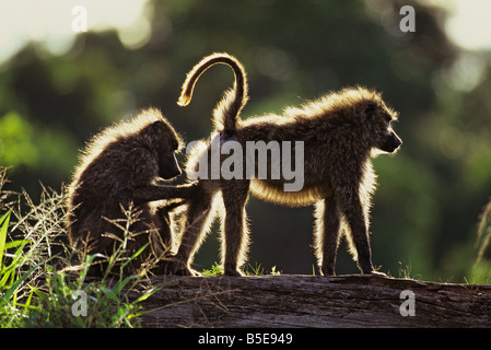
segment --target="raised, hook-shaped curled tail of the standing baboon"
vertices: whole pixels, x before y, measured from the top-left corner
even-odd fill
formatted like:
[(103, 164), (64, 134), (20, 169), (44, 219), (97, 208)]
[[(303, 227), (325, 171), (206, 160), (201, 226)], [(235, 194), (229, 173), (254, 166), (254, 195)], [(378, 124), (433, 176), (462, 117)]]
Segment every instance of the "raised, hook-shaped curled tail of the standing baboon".
[(234, 70), (235, 82), (234, 86), (224, 93), (223, 98), (214, 108), (213, 124), (215, 130), (232, 136), (237, 127), (238, 115), (248, 100), (246, 73), (244, 67), (235, 57), (227, 54), (213, 54), (204, 57), (187, 74), (177, 104), (183, 107), (188, 105), (198, 78), (208, 68), (218, 63), (227, 65)]

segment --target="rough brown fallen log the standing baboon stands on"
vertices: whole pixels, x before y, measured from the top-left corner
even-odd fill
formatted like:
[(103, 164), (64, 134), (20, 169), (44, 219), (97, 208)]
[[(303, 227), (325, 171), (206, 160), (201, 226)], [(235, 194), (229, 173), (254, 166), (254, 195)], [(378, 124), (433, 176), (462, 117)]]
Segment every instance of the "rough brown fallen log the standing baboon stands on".
[[(144, 327), (491, 327), (491, 285), (365, 276), (163, 277)], [(414, 316), (401, 316), (405, 290)], [(402, 308), (408, 310), (407, 304)]]

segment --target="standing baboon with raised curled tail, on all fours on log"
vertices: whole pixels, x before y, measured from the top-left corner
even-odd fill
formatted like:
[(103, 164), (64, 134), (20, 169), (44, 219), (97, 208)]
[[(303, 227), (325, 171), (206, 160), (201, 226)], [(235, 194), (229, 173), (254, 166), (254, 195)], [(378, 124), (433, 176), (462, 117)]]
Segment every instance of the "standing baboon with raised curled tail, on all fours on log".
[[(213, 211), (213, 197), (221, 192), (223, 270), (230, 276), (242, 275), (239, 268), (248, 246), (245, 205), (250, 190), (254, 196), (279, 205), (315, 205), (314, 241), (322, 275), (335, 275), (342, 235), (361, 272), (381, 273), (373, 268), (369, 242), (369, 211), (376, 178), (371, 156), (394, 153), (402, 143), (390, 127), (397, 113), (385, 105), (379, 93), (355, 86), (328, 93), (300, 108), (289, 107), (281, 116), (270, 114), (241, 120), (238, 115), (247, 101), (246, 75), (243, 66), (226, 54), (206, 57), (188, 73), (179, 105), (190, 102), (197, 79), (215, 63), (229, 65), (235, 74), (234, 88), (225, 93), (213, 112), (221, 142), (233, 140), (245, 148), (250, 141), (301, 141), (304, 154), (295, 152), (292, 158), (303, 156), (304, 183), (297, 191), (285, 191), (283, 185), (288, 180), (283, 175), (277, 179), (258, 178), (257, 172), (252, 179), (200, 179), (201, 191), (189, 203), (175, 256), (182, 261), (176, 269), (194, 273), (190, 270), (192, 256), (208, 230), (210, 220), (207, 217)], [(191, 168), (196, 159), (210, 152), (210, 145), (196, 152), (188, 165)], [(272, 161), (268, 154), (268, 164)]]

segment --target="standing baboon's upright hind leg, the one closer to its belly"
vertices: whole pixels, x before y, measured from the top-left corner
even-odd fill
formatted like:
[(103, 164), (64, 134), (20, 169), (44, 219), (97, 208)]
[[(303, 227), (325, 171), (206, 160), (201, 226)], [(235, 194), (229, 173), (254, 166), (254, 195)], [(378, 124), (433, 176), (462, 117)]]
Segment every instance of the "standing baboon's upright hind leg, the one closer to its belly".
[(245, 205), (249, 182), (233, 182), (222, 187), (225, 219), (222, 228), (222, 261), (227, 276), (243, 276), (249, 243)]

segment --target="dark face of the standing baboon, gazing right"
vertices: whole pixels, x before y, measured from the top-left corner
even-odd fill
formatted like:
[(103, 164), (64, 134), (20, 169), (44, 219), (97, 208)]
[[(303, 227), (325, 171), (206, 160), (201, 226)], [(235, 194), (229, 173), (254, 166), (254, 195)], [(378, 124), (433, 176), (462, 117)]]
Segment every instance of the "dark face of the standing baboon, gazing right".
[(384, 152), (394, 153), (402, 144), (390, 126), (397, 119), (397, 113), (386, 107), (384, 103), (370, 102), (364, 114), (375, 133), (373, 147)]

